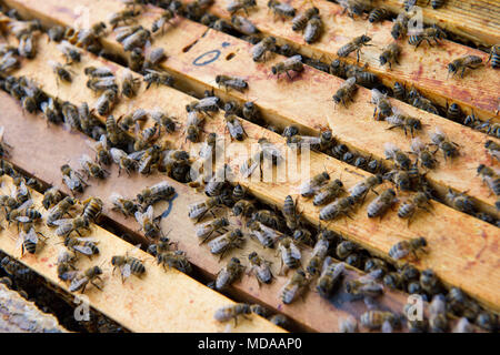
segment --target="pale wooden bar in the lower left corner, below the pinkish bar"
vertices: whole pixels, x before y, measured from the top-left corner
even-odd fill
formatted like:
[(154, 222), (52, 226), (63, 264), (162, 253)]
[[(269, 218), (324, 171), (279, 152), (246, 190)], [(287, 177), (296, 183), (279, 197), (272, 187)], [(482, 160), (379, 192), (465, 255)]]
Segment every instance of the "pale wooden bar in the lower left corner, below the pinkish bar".
[[(1, 193), (10, 193), (13, 189), (12, 179), (2, 176)], [(34, 206), (42, 210), (42, 195), (31, 192)], [(53, 229), (44, 224), (37, 230), (48, 236), (47, 244), (34, 255), (20, 256), (20, 248), (16, 246), (18, 232), (16, 225), (0, 232), (0, 248), (12, 257), (36, 271), (58, 287), (69, 292), (68, 285), (59, 281), (57, 275), (57, 257), (61, 240)], [(129, 277), (124, 284), (116, 274), (111, 275), (110, 264), (113, 255), (124, 255), (133, 245), (122, 241), (108, 231), (91, 225), (91, 236), (98, 241), (99, 255), (92, 260), (80, 257), (78, 267), (87, 270), (93, 265), (101, 265), (104, 286), (99, 292), (91, 285), (86, 291), (90, 306), (106, 316), (120, 323), (132, 332), (223, 332), (226, 324), (213, 320), (216, 310), (233, 301), (206, 287), (177, 270), (166, 272), (156, 264), (154, 258), (137, 251), (137, 257), (144, 261), (147, 272), (142, 280)], [(102, 266), (103, 265), (103, 266)], [(153, 311), (153, 312), (152, 312)], [(251, 321), (240, 322), (234, 332), (282, 332), (281, 328), (254, 314)]]

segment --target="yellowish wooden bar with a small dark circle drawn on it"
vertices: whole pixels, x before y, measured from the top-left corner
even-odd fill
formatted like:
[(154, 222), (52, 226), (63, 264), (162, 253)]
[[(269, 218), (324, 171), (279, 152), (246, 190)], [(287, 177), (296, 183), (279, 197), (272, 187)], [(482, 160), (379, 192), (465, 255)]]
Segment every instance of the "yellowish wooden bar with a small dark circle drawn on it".
[[(70, 3), (66, 4), (68, 8), (51, 7), (49, 6), (50, 1), (47, 2), (48, 7), (40, 7), (38, 2), (31, 2), (31, 0), (21, 1), (22, 6), (21, 2), (16, 1), (11, 1), (9, 4), (17, 4), (19, 11), (24, 11), (26, 14), (34, 16), (47, 23), (71, 24), (74, 19), (71, 19), (70, 16), (72, 13), (69, 9)], [(27, 6), (29, 6), (29, 11), (24, 8)], [(118, 6), (121, 3), (117, 3)], [(94, 21), (106, 21), (108, 14), (108, 12), (96, 12), (92, 18)], [(157, 16), (158, 11), (151, 10), (142, 16), (141, 23), (150, 27)], [(206, 89), (214, 89), (217, 94), (224, 100), (254, 101), (268, 122), (278, 126), (296, 124), (303, 134), (319, 134), (320, 129), (329, 124), (339, 141), (364, 155), (372, 154), (376, 159), (384, 158), (383, 145), (386, 142), (393, 142), (403, 151), (410, 150), (409, 136), (404, 136), (400, 130), (389, 131), (386, 122), (372, 119), (373, 106), (367, 104), (371, 98), (369, 90), (359, 88), (356, 102), (348, 109), (340, 105), (334, 108), (331, 95), (344, 82), (343, 80), (312, 68), (306, 68), (293, 82), (289, 82), (286, 78), (271, 79), (270, 68), (277, 61), (282, 60), (282, 57), (276, 55), (273, 60), (263, 64), (254, 63), (248, 54), (251, 48), (249, 43), (221, 32), (207, 31), (206, 27), (184, 19), (177, 19), (174, 23), (176, 26), (169, 29), (164, 36), (154, 40), (154, 45), (164, 48), (170, 58), (162, 63), (162, 67), (177, 75), (179, 83), (187, 90), (201, 93)], [(103, 42), (109, 49), (122, 52), (121, 45), (112, 37), (111, 34)], [(184, 52), (187, 43), (194, 42), (196, 45)], [(216, 50), (220, 52), (218, 60), (207, 65), (192, 64), (197, 58)], [(226, 60), (231, 53), (236, 53), (236, 57), (230, 61)], [(39, 55), (44, 55), (43, 50), (40, 50)], [(49, 59), (50, 54), (47, 55), (46, 58)], [(30, 71), (32, 65), (37, 64), (28, 62), (19, 72)], [(50, 72), (51, 69), (44, 65), (37, 68), (33, 74), (38, 78), (48, 75)], [(249, 90), (244, 93), (236, 91), (226, 93), (223, 90), (219, 90), (214, 82), (217, 73), (246, 78), (249, 82)], [(79, 82), (83, 82), (83, 79)], [(316, 84), (311, 87), (311, 82)], [(311, 101), (314, 103), (311, 104)], [(428, 141), (428, 133), (439, 126), (453, 142), (460, 145), (462, 155), (453, 161), (444, 162), (442, 155), (438, 155), (439, 166), (427, 174), (427, 179), (433, 187), (441, 194), (444, 194), (448, 187), (459, 192), (468, 191), (468, 194), (477, 200), (480, 209), (499, 217), (500, 213), (494, 207), (496, 196), (476, 175), (476, 169), (480, 163), (493, 164), (483, 148), (484, 142), (490, 138), (396, 100), (391, 100), (391, 102), (402, 112), (421, 120), (424, 126), (421, 133), (423, 141)]]

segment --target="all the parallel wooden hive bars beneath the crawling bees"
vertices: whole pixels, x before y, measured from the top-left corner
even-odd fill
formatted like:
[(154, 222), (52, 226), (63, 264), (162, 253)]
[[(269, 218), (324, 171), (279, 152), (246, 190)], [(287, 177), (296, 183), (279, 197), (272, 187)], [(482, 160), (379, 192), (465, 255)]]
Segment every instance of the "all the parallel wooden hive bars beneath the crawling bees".
[[(44, 28), (56, 24), (90, 27), (99, 21), (107, 22), (110, 13), (126, 8), (126, 4), (118, 0), (99, 2), (99, 4), (92, 0), (69, 0), (64, 3), (56, 0), (43, 2), (6, 0), (3, 2), (8, 8), (16, 9), (24, 19), (39, 19)], [(441, 9), (442, 11), (424, 9), (424, 22), (438, 22), (451, 33), (458, 34), (459, 38), (474, 41), (480, 48), (498, 42), (498, 33), (496, 34), (493, 31), (492, 34), (487, 34), (483, 26), (468, 21), (462, 24), (467, 27), (463, 30), (456, 22), (449, 20), (449, 16), (454, 13), (453, 11), (463, 12), (463, 10), (459, 11), (453, 8), (454, 1), (449, 2), (444, 9)], [(301, 1), (290, 1), (289, 3), (298, 11), (304, 9)], [(390, 1), (388, 9), (396, 11), (399, 9), (397, 3), (398, 1)], [(216, 1), (207, 11), (230, 22), (231, 16), (226, 10), (226, 6), (222, 1)], [(362, 67), (367, 63), (367, 71), (377, 74), (381, 85), (391, 88), (396, 82), (401, 82), (408, 89), (418, 89), (438, 106), (458, 103), (463, 115), (476, 114), (482, 121), (490, 120), (490, 124), (498, 124), (498, 88), (500, 87), (498, 70), (487, 64), (481, 69), (467, 71), (463, 79), (447, 78), (447, 65), (456, 58), (473, 54), (486, 62), (488, 53), (477, 47), (467, 47), (451, 40), (443, 40), (440, 45), (434, 47), (422, 43), (414, 50), (407, 43), (407, 40), (401, 40), (399, 43), (402, 52), (399, 64), (389, 70), (379, 65), (379, 55), (382, 48), (393, 40), (390, 36), (392, 27), (390, 21), (371, 24), (362, 18), (350, 19), (347, 14), (342, 14), (342, 8), (336, 3), (314, 1), (314, 6), (320, 10), (324, 28), (320, 40), (312, 44), (306, 43), (300, 33), (291, 30), (290, 20), (281, 20), (278, 17), (273, 20), (266, 1), (257, 1), (257, 8), (249, 10), (248, 19), (257, 26), (260, 31), (259, 36), (273, 36), (279, 45), (291, 45), (294, 52), (304, 58), (304, 61), (306, 58), (312, 58), (327, 63), (327, 65), (337, 59), (337, 51), (341, 45), (357, 36), (367, 34), (372, 39), (371, 42), (374, 45), (363, 48), (361, 62), (358, 64)], [(134, 24), (136, 22), (140, 23), (143, 28), (151, 28), (151, 24), (163, 12), (162, 9), (151, 4), (141, 6), (140, 9), (142, 13), (133, 21)], [(491, 8), (491, 12), (494, 14), (494, 7)], [(89, 14), (89, 23), (81, 22), (86, 13)], [(486, 10), (479, 13), (479, 17), (488, 19), (492, 28), (499, 23), (498, 11), (497, 17)], [(4, 18), (3, 23), (8, 23), (8, 21), (11, 20)], [(6, 28), (8, 28), (7, 24)], [(466, 37), (464, 32), (470, 36)], [(344, 79), (311, 65), (304, 65), (303, 71), (293, 74), (291, 80), (287, 75), (276, 78), (271, 74), (271, 67), (284, 60), (284, 57), (274, 53), (268, 61), (256, 63), (251, 58), (252, 44), (247, 41), (248, 38), (243, 38), (241, 33), (240, 36), (236, 34), (238, 33), (223, 33), (208, 28), (199, 21), (177, 16), (166, 24), (164, 31), (153, 36), (151, 41), (152, 48), (164, 49), (168, 59), (161, 62), (160, 68), (176, 79), (176, 84), (173, 88), (153, 84), (149, 89), (141, 84), (136, 98), (131, 100), (121, 98), (113, 108), (112, 115), (120, 118), (138, 108), (144, 110), (160, 108), (169, 115), (177, 118), (179, 128), (172, 134), (162, 134), (159, 142), (166, 141), (171, 148), (193, 152), (196, 145), (186, 140), (186, 105), (202, 98), (203, 91), (212, 90), (224, 102), (234, 101), (238, 104), (254, 102), (261, 112), (263, 119), (261, 124), (241, 119), (247, 136), (242, 142), (232, 142), (247, 151), (250, 151), (252, 144), (256, 145), (260, 138), (267, 138), (270, 142), (280, 144), (280, 149), (287, 153), (287, 156), (291, 155), (291, 150), (284, 144), (286, 139), (272, 132), (271, 125), (278, 131), (288, 125), (294, 125), (304, 135), (318, 135), (321, 131), (330, 129), (336, 136), (337, 144), (346, 144), (356, 154), (383, 161), (387, 169), (392, 169), (393, 163), (384, 159), (386, 142), (392, 142), (403, 151), (410, 150), (410, 134), (404, 134), (399, 129), (388, 130), (390, 125), (387, 122), (373, 119), (374, 106), (370, 103), (369, 88), (360, 85), (357, 89), (354, 102), (349, 106), (334, 105), (331, 97), (346, 82)], [(8, 40), (17, 43), (16, 39), (8, 38)], [(81, 50), (81, 62), (69, 67), (73, 78), (69, 84), (58, 81), (52, 68), (48, 64), (50, 60), (60, 62), (64, 60), (57, 43), (49, 41), (47, 34), (37, 34), (37, 55), (30, 60), (21, 59), (20, 68), (10, 74), (28, 78), (36, 82), (47, 95), (57, 98), (61, 102), (68, 101), (74, 105), (80, 105), (82, 102), (92, 104), (97, 97), (86, 84), (88, 78), (83, 73), (84, 68), (107, 67), (117, 78), (121, 78), (128, 61), (123, 62), (118, 59), (127, 59), (130, 54), (123, 50), (112, 31), (108, 31), (101, 37), (100, 43), (106, 52), (112, 53), (114, 57), (109, 55), (109, 59), (103, 59)], [(147, 48), (147, 52), (149, 51), (150, 48)], [(354, 64), (356, 55), (346, 58), (346, 62)], [(218, 74), (243, 78), (248, 82), (248, 90), (239, 92), (219, 88), (216, 82)], [(141, 80), (140, 73), (133, 73), (133, 75)], [(54, 124), (50, 124), (48, 128), (47, 122), (40, 119), (39, 113), (24, 112), (19, 103), (7, 93), (0, 93), (0, 100), (4, 112), (0, 119), (1, 125), (6, 130), (4, 141), (12, 145), (10, 156), (6, 159), (18, 170), (36, 176), (46, 185), (59, 186), (62, 192), (69, 194), (68, 187), (60, 183), (60, 166), (66, 163), (79, 166), (78, 160), (82, 154), (93, 156), (93, 151), (86, 144), (89, 138), (81, 132), (69, 132)], [(367, 206), (377, 197), (370, 193), (367, 195), (364, 204), (352, 213), (352, 219), (343, 217), (331, 221), (324, 223), (323, 227), (342, 235), (344, 240), (356, 242), (366, 250), (367, 255), (370, 253), (372, 256), (386, 260), (390, 265), (396, 265), (388, 254), (393, 244), (416, 236), (424, 236), (429, 244), (429, 253), (420, 260), (410, 260), (409, 262), (420, 271), (433, 270), (446, 287), (460, 287), (489, 312), (498, 312), (500, 308), (498, 293), (500, 275), (497, 267), (499, 230), (496, 225), (481, 221), (477, 216), (459, 212), (442, 199), (449, 190), (456, 193), (466, 192), (476, 203), (478, 213), (487, 213), (493, 221), (497, 221), (499, 217), (496, 207), (498, 196), (490, 192), (476, 172), (481, 163), (493, 168), (498, 165), (498, 161), (491, 158), (484, 149), (486, 141), (496, 140), (496, 138), (444, 118), (446, 114), (441, 112), (441, 109), (442, 115), (432, 114), (403, 101), (393, 98), (389, 100), (400, 111), (420, 119), (423, 129), (418, 134), (422, 140), (429, 141), (429, 133), (439, 126), (459, 148), (460, 155), (452, 160), (444, 161), (441, 153), (438, 153), (436, 155), (439, 159), (438, 168), (429, 170), (424, 175), (429, 185), (437, 192), (436, 201), (432, 201), (431, 213), (419, 212), (411, 225), (406, 220), (398, 217), (397, 207), (394, 211), (389, 211), (382, 220), (369, 219)], [(99, 119), (106, 122), (106, 115), (99, 115)], [(148, 119), (141, 129), (150, 128), (153, 124), (154, 122)], [(209, 132), (216, 132), (219, 136), (231, 141), (222, 110), (206, 119), (203, 132), (202, 140)], [(134, 133), (131, 132), (131, 134)], [(238, 175), (243, 159), (228, 156), (223, 163), (228, 163)], [(341, 179), (346, 187), (352, 187), (370, 175), (366, 170), (336, 159), (331, 154), (317, 151), (311, 152), (308, 168), (311, 175), (328, 171), (332, 178)], [(161, 202), (154, 206), (156, 215), (167, 211), (161, 220), (161, 229), (166, 233), (169, 232), (170, 240), (178, 243), (179, 250), (187, 252), (190, 262), (200, 275), (213, 278), (230, 257), (228, 255), (222, 262), (219, 262), (219, 256), (211, 255), (207, 246), (200, 246), (196, 236), (197, 225), (188, 217), (189, 206), (203, 201), (207, 196), (164, 174), (132, 173), (129, 176), (122, 172), (119, 176), (118, 168), (114, 165), (109, 171), (110, 176), (103, 181), (91, 179), (90, 186), (79, 199), (84, 200), (88, 196), (102, 199), (106, 202), (104, 224), (112, 224), (117, 231), (127, 232), (132, 240), (146, 245), (151, 241), (142, 232), (138, 232), (137, 222), (112, 211), (108, 197), (112, 192), (134, 196), (144, 186), (167, 181), (176, 189), (177, 194), (168, 204)], [(2, 179), (3, 191), (7, 193), (11, 189), (11, 180), (8, 176)], [(243, 180), (240, 174), (236, 179), (236, 183), (248, 189), (248, 192), (261, 203), (282, 209), (287, 195), (291, 194), (294, 197), (298, 195), (301, 182), (256, 182)], [(390, 186), (391, 183), (384, 182), (377, 190), (381, 192)], [(36, 192), (33, 192), (33, 196), (36, 201), (41, 199)], [(398, 191), (400, 204), (409, 196), (411, 193)], [(299, 197), (298, 201), (304, 224), (317, 226), (320, 223), (319, 209), (313, 206), (310, 199)], [(243, 222), (237, 223), (244, 229)], [(12, 236), (12, 239), (0, 239), (2, 251), (20, 258), (23, 264), (43, 275), (50, 283), (68, 292), (68, 285), (57, 277), (54, 266), (58, 237), (53, 235), (53, 230), (43, 229), (43, 233), (50, 237), (48, 245), (39, 255), (22, 257), (20, 257), (13, 241), (17, 235), (14, 226), (10, 226), (1, 233)], [(148, 261), (146, 277), (143, 280), (130, 277), (122, 284), (119, 277), (110, 275), (112, 266), (109, 261), (112, 255), (124, 254), (131, 250), (132, 245), (97, 225), (92, 226), (92, 234), (99, 240), (102, 253), (92, 261), (82, 261), (81, 268), (98, 264), (107, 264), (108, 268), (103, 276), (106, 283), (103, 292), (94, 290), (88, 292), (93, 308), (134, 332), (223, 331), (224, 325), (213, 320), (213, 313), (218, 307), (233, 301), (204, 287), (198, 281), (180, 272), (174, 270), (163, 272), (161, 266), (156, 265), (153, 257), (146, 253), (140, 254), (141, 258)], [(301, 248), (304, 258), (302, 264), (306, 266), (311, 247), (302, 245)], [(280, 290), (291, 273), (278, 275), (279, 258), (277, 258), (274, 250), (264, 250), (257, 241), (247, 239), (242, 250), (230, 254), (247, 263), (247, 256), (253, 250), (273, 261), (272, 268), (276, 280), (270, 285), (259, 286), (253, 276), (243, 275), (242, 280), (234, 283), (228, 291), (228, 295), (233, 300), (260, 303), (273, 312), (284, 314), (298, 329), (312, 332), (338, 332), (339, 321), (348, 316), (359, 320), (360, 315), (367, 311), (367, 306), (362, 302), (349, 302), (342, 292), (332, 296), (331, 300), (321, 298), (318, 293), (313, 292), (316, 280), (311, 282), (311, 291), (307, 292), (303, 302), (298, 301), (284, 305), (279, 297)], [(348, 267), (343, 284), (362, 276), (363, 273), (362, 265)], [(379, 307), (401, 314), (407, 297), (406, 292), (386, 287), (384, 295), (378, 300)], [(453, 322), (456, 320), (451, 317), (451, 323)], [(240, 322), (234, 331), (278, 332), (281, 329), (258, 316), (252, 316), (250, 322)], [(360, 326), (360, 331), (368, 329)], [(402, 331), (408, 331), (404, 324)]]

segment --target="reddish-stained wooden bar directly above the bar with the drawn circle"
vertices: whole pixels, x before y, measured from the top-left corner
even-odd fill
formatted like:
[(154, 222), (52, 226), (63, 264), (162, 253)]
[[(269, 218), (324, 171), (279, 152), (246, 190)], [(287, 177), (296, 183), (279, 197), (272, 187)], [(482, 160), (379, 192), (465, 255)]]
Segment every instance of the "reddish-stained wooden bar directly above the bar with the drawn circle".
[[(191, 0), (188, 0), (188, 2)], [(296, 9), (301, 9), (302, 0), (289, 2)], [(497, 70), (483, 68), (474, 73), (468, 73), (463, 79), (447, 79), (449, 62), (454, 59), (473, 54), (479, 55), (486, 62), (488, 54), (480, 50), (474, 50), (452, 41), (443, 41), (442, 45), (429, 47), (422, 43), (414, 50), (408, 40), (400, 40), (401, 47), (400, 64), (393, 65), (392, 70), (388, 65), (381, 67), (379, 57), (382, 49), (393, 42), (391, 37), (391, 21), (382, 23), (370, 23), (368, 20), (352, 20), (348, 14), (342, 14), (342, 8), (328, 1), (314, 1), (314, 6), (322, 14), (324, 33), (316, 43), (308, 44), (300, 32), (293, 32), (291, 21), (272, 20), (272, 11), (268, 11), (267, 1), (258, 0), (258, 8), (249, 12), (249, 20), (264, 34), (277, 38), (278, 43), (289, 43), (299, 53), (322, 59), (330, 63), (337, 57), (337, 51), (352, 40), (354, 37), (367, 34), (372, 38), (370, 42), (373, 47), (366, 47), (362, 50), (360, 64), (367, 63), (368, 71), (373, 72), (388, 87), (393, 87), (394, 82), (404, 83), (406, 88), (417, 88), (426, 97), (446, 108), (447, 102), (458, 103), (464, 112), (473, 111), (483, 120), (498, 116), (498, 88), (500, 87), (500, 74)], [(216, 1), (209, 10), (213, 14), (230, 21), (230, 13), (226, 10), (224, 1)], [(497, 22), (498, 22), (497, 18)], [(500, 23), (499, 23), (500, 24)], [(356, 62), (356, 55), (347, 58), (350, 63)]]

